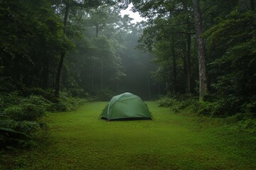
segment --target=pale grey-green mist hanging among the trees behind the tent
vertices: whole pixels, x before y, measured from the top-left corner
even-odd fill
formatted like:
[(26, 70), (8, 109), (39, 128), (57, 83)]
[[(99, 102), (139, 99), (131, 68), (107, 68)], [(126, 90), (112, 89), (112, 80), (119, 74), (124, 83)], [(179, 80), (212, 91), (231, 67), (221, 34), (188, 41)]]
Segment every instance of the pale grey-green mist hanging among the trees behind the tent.
[(136, 22), (121, 11), (118, 6), (78, 10), (83, 13), (79, 20), (70, 13), (74, 29), (69, 29), (68, 23), (67, 34), (74, 36), (75, 49), (68, 52), (64, 62), (63, 89), (80, 89), (85, 95), (128, 91), (145, 99), (166, 91), (160, 91), (162, 84), (151, 78), (156, 69), (151, 62), (154, 54), (139, 49), (145, 22)]

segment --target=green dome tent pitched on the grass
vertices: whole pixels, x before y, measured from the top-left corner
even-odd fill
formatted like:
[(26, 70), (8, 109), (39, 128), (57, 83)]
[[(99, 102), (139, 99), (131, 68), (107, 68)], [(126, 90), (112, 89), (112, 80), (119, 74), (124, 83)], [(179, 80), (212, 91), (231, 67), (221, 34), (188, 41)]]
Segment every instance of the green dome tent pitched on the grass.
[(107, 120), (152, 119), (151, 113), (142, 99), (130, 93), (114, 96), (100, 117)]

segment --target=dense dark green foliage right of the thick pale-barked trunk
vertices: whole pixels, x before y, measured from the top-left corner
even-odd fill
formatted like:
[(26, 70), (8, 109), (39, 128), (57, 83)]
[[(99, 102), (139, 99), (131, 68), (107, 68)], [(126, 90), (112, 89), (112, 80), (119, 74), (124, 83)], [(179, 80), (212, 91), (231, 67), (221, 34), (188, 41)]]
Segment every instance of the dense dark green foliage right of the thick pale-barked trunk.
[(205, 34), (208, 51), (212, 52), (212, 87), (229, 115), (245, 112), (242, 108), (247, 103), (255, 103), (255, 28), (255, 13), (233, 11)]

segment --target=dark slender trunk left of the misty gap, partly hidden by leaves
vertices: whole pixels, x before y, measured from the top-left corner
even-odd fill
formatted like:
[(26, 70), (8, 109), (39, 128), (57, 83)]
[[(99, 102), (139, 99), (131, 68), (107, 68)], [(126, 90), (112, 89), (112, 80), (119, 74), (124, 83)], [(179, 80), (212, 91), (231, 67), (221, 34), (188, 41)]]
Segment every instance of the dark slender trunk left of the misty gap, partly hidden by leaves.
[[(66, 27), (67, 27), (67, 22), (68, 22), (68, 12), (69, 12), (69, 1), (65, 4), (65, 16), (64, 16), (64, 28), (63, 28), (63, 33), (66, 34)], [(57, 77), (56, 77), (56, 82), (55, 82), (55, 96), (59, 97), (60, 96), (60, 79), (61, 79), (61, 72), (63, 69), (63, 61), (64, 57), (66, 55), (65, 51), (60, 52), (60, 61), (58, 63), (58, 72), (57, 72)]]

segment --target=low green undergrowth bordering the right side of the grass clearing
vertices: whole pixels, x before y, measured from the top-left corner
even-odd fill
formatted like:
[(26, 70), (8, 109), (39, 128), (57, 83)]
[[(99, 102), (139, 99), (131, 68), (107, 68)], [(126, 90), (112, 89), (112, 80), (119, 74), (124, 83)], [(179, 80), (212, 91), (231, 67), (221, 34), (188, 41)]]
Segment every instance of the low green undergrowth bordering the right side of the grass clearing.
[[(235, 101), (234, 101), (235, 102)], [(230, 107), (225, 99), (211, 100), (208, 96), (206, 101), (199, 102), (194, 96), (178, 96), (178, 98), (161, 96), (158, 100), (160, 107), (169, 107), (174, 113), (197, 114), (209, 118), (221, 118), (221, 122), (235, 131), (241, 130), (256, 133), (255, 101), (244, 103), (237, 111)]]

